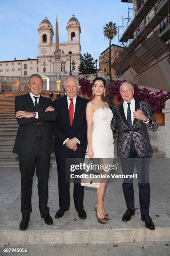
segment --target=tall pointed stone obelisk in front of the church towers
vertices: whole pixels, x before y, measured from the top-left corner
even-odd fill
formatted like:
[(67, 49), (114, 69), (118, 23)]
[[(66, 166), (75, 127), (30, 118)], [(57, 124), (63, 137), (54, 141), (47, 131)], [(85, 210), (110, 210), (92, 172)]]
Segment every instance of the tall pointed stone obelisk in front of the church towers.
[(54, 54), (54, 72), (61, 73), (61, 60), (60, 60), (60, 51), (59, 51), (59, 35), (58, 35), (58, 19), (56, 18), (55, 23), (55, 54)]

